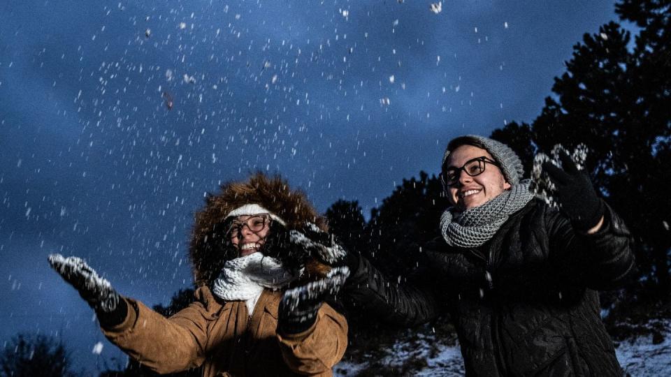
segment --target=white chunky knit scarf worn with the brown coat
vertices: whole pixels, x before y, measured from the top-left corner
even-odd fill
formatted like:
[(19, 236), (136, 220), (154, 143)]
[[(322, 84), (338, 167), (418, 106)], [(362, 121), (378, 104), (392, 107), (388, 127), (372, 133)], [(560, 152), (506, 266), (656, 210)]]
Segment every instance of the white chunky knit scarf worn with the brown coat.
[(256, 252), (227, 261), (212, 293), (226, 301), (245, 301), (251, 316), (264, 288), (280, 289), (296, 277), (284, 269), (280, 260)]

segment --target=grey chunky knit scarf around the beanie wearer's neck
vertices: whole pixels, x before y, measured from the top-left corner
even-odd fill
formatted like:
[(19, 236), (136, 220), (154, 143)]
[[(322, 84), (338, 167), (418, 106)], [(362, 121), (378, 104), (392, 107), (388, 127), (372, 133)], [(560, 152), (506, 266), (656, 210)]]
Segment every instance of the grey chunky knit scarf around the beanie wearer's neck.
[(477, 247), (484, 244), (496, 234), (508, 216), (533, 199), (529, 184), (528, 179), (521, 181), (484, 205), (461, 213), (449, 207), (440, 218), (442, 237), (449, 246)]

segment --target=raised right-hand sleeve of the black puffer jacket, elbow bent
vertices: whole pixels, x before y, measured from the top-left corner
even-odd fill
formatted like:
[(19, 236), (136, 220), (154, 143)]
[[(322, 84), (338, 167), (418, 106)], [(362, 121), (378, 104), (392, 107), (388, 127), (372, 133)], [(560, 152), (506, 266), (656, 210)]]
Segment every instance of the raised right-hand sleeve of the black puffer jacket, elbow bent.
[(633, 237), (624, 222), (605, 205), (604, 222), (592, 235), (575, 232), (561, 212), (549, 212), (551, 258), (565, 279), (594, 290), (617, 289), (635, 270)]

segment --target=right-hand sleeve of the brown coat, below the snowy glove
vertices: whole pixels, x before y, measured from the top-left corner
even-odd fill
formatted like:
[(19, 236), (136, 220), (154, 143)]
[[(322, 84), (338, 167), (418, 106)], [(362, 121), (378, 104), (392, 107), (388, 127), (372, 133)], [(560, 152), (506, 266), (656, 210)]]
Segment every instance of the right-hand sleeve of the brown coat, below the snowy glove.
[(347, 348), (347, 320), (324, 303), (317, 320), (298, 334), (277, 333), (282, 358), (291, 371), (307, 376), (331, 376)]

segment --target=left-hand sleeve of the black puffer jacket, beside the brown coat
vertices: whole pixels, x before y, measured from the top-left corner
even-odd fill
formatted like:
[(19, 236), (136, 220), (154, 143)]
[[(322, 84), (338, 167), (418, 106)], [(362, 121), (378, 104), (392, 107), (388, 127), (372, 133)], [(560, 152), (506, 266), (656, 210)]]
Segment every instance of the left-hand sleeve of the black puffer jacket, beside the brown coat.
[(409, 279), (390, 279), (366, 258), (359, 257), (359, 267), (347, 279), (344, 289), (346, 299), (359, 311), (399, 326), (426, 323), (438, 314), (435, 293), (421, 281), (431, 269), (421, 258), (419, 266)]

